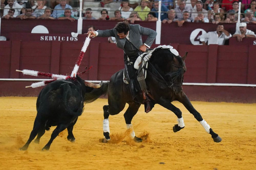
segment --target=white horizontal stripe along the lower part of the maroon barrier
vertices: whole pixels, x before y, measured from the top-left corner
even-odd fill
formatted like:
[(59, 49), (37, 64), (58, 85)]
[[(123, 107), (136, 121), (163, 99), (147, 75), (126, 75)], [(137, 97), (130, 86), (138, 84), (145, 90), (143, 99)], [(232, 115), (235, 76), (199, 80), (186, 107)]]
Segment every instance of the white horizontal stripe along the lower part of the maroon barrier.
[[(48, 81), (50, 79), (0, 79), (0, 81)], [(87, 82), (100, 83), (99, 80), (86, 80)], [(108, 81), (103, 81), (108, 82)], [(195, 85), (195, 86), (246, 86), (256, 87), (256, 84), (234, 84), (234, 83), (183, 83), (183, 85)]]

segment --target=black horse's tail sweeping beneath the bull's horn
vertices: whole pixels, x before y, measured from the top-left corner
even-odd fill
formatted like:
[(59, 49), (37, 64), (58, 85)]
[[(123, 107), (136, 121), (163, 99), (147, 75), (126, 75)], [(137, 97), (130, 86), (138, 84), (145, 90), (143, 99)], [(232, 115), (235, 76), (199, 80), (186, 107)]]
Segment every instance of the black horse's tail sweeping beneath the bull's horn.
[(91, 103), (98, 99), (100, 96), (105, 95), (108, 91), (109, 82), (103, 83), (100, 88), (86, 87), (84, 95), (84, 103)]

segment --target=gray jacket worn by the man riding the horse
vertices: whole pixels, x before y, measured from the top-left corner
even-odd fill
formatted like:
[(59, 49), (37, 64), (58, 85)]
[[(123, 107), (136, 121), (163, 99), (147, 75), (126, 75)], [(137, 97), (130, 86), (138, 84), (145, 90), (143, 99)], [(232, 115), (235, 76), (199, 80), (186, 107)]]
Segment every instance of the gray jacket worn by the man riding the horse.
[[(118, 46), (121, 49), (124, 49), (124, 44), (125, 44), (125, 38), (120, 39), (119, 36), (117, 35), (116, 29), (111, 29), (111, 30), (98, 30), (98, 36), (100, 37), (115, 37), (116, 39), (116, 46)], [(144, 42), (144, 44), (151, 46), (156, 38), (156, 32), (154, 30), (151, 30), (149, 28), (144, 28), (141, 27), (140, 25), (132, 25), (130, 24), (130, 42), (137, 48), (140, 49), (140, 46), (143, 44), (142, 43), (142, 38), (141, 35), (147, 35), (148, 38)]]

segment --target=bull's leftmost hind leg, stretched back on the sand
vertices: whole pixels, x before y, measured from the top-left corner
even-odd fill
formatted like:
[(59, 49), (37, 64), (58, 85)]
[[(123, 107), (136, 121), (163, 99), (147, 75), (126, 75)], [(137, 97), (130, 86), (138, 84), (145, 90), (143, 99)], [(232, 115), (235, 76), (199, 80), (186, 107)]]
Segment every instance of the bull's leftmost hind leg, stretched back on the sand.
[(28, 138), (28, 141), (25, 143), (25, 145), (20, 148), (20, 150), (27, 150), (29, 144), (31, 143), (31, 141), (36, 137), (36, 135), (38, 134), (38, 131), (40, 129), (40, 127), (43, 125), (41, 118), (39, 118), (39, 116), (36, 116), (35, 122), (34, 122), (34, 126), (33, 126), (33, 130), (30, 133), (30, 136)]

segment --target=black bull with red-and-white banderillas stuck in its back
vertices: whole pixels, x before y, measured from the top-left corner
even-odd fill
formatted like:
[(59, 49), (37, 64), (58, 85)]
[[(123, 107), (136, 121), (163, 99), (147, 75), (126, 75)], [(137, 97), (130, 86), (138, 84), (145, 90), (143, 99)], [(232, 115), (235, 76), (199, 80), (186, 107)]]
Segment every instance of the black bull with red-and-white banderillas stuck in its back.
[[(90, 86), (90, 87), (88, 87)], [(60, 132), (67, 128), (68, 140), (75, 140), (72, 130), (74, 124), (84, 109), (84, 102), (89, 103), (101, 95), (106, 94), (108, 83), (100, 83), (99, 85), (85, 82), (79, 76), (76, 80), (56, 80), (46, 85), (40, 92), (36, 109), (33, 130), (29, 139), (20, 150), (27, 150), (30, 142), (36, 137), (36, 143), (45, 130), (49, 130), (51, 126), (57, 126), (52, 132), (49, 142), (42, 150), (49, 150), (52, 141)]]

